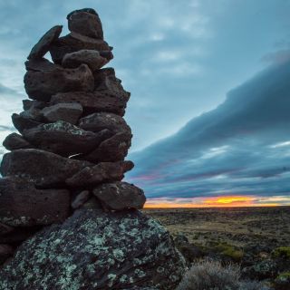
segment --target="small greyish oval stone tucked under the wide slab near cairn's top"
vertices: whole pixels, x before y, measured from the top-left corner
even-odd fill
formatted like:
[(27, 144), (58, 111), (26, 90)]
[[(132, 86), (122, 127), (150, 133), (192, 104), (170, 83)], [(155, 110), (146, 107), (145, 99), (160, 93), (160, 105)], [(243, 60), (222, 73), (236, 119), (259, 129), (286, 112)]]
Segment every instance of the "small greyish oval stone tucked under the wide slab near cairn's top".
[(76, 68), (82, 63), (89, 66), (92, 72), (102, 68), (108, 60), (100, 55), (98, 51), (83, 49), (74, 53), (67, 53), (63, 57), (63, 67), (65, 68)]

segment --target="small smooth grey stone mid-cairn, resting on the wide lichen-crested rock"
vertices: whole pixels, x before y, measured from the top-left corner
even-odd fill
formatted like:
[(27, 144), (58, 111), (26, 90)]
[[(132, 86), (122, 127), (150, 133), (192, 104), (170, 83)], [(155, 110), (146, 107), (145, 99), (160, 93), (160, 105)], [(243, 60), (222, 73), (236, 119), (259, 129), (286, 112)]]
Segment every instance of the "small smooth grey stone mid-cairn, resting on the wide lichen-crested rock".
[(66, 121), (74, 125), (82, 116), (82, 105), (79, 102), (60, 102), (45, 107), (41, 114), (45, 121)]

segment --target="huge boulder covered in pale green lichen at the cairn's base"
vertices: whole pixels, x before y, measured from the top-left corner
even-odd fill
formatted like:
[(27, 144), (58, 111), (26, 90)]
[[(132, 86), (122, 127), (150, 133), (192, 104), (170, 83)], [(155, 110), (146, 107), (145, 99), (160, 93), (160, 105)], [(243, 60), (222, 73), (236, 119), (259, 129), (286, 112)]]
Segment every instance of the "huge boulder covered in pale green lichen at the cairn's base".
[(173, 290), (184, 269), (155, 220), (138, 211), (82, 209), (25, 241), (0, 270), (0, 289)]

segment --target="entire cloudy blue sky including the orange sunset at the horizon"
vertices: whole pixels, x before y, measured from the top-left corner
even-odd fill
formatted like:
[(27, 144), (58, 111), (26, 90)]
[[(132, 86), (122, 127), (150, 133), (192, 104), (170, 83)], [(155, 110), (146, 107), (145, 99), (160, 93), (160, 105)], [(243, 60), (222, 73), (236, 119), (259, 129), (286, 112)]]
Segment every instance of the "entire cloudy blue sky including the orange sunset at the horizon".
[(290, 204), (289, 0), (80, 3), (0, 0), (1, 140), (34, 43), (92, 7), (114, 47), (108, 66), (131, 92), (126, 179), (149, 207)]

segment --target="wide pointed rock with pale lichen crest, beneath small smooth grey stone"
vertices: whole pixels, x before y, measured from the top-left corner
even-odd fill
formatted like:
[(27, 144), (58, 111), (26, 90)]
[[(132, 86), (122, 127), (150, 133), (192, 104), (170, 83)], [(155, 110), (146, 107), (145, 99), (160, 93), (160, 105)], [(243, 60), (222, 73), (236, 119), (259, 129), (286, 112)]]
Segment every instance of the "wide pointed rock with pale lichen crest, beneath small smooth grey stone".
[(108, 130), (97, 133), (82, 129), (65, 121), (39, 125), (23, 132), (24, 139), (36, 148), (47, 150), (65, 157), (89, 152), (111, 137)]

